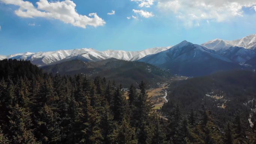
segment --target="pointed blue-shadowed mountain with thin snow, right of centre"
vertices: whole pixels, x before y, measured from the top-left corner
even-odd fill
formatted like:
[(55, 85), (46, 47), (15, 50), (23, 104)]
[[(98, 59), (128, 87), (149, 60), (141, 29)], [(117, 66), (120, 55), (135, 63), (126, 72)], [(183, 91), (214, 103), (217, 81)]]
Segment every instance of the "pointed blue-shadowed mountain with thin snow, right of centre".
[(147, 62), (183, 76), (201, 76), (219, 70), (240, 68), (238, 64), (216, 51), (187, 41), (168, 50), (145, 56), (138, 61)]

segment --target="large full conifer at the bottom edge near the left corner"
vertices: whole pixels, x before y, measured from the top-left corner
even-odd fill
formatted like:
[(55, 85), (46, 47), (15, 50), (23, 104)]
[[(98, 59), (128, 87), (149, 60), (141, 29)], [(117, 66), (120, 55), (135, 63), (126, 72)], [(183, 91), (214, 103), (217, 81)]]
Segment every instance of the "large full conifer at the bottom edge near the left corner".
[(30, 113), (24, 108), (15, 105), (9, 112), (9, 131), (12, 135), (10, 139), (12, 144), (39, 144), (34, 137), (31, 128), (32, 123)]

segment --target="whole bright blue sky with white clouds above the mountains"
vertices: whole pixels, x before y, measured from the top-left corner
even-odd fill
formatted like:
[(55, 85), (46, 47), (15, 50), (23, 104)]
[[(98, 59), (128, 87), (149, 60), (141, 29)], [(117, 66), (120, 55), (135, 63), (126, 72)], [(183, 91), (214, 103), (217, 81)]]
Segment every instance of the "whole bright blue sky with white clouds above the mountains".
[[(189, 0), (68, 0), (66, 5), (76, 4), (75, 13), (43, 6), (45, 2), (61, 6), (63, 0), (40, 0), (40, 9), (36, 3), (39, 0), (27, 1), (29, 9), (24, 1), (0, 0), (0, 55), (76, 48), (143, 50), (183, 40), (201, 44), (256, 33), (255, 0), (229, 0), (224, 4), (195, 0), (192, 6), (187, 4)], [(25, 16), (15, 10), (24, 11)], [(39, 14), (29, 14), (28, 10)], [(115, 14), (108, 15), (112, 10)], [(64, 17), (95, 17), (89, 13), (97, 13), (98, 18), (78, 25)]]

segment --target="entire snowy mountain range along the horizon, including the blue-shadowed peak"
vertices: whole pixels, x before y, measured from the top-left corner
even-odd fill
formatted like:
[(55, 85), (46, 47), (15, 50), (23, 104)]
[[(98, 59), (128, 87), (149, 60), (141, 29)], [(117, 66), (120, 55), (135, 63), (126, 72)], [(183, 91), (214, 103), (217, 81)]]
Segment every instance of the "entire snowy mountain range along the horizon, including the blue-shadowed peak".
[[(256, 34), (234, 41), (215, 39), (202, 45), (183, 41), (173, 47), (151, 48), (142, 51), (97, 51), (92, 48), (83, 48), (54, 52), (18, 53), (0, 56), (0, 59), (24, 59), (30, 60), (38, 66), (45, 66), (70, 65), (68, 61), (71, 60), (97, 62), (115, 58), (149, 63), (182, 76), (202, 76), (216, 71), (255, 69), (256, 66), (253, 63), (255, 57)], [(56, 73), (56, 71), (52, 72)]]

